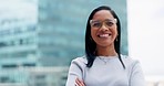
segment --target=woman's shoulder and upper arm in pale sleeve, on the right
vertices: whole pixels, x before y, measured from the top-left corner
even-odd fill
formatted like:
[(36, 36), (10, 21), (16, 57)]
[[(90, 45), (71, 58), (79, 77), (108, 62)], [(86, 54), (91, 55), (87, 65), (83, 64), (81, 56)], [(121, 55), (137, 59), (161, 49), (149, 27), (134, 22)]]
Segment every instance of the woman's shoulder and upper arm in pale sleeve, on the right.
[(134, 60), (130, 56), (123, 56), (122, 60), (125, 63), (127, 76), (131, 86), (145, 86), (144, 73), (142, 71), (139, 60)]

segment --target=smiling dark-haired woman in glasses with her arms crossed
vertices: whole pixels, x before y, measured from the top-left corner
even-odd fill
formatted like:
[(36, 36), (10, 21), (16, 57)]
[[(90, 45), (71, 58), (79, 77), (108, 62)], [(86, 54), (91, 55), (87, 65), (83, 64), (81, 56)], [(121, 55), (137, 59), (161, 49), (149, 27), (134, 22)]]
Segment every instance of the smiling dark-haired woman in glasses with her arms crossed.
[(72, 61), (66, 86), (144, 86), (140, 63), (120, 53), (121, 24), (115, 12), (99, 7), (89, 17), (85, 55)]

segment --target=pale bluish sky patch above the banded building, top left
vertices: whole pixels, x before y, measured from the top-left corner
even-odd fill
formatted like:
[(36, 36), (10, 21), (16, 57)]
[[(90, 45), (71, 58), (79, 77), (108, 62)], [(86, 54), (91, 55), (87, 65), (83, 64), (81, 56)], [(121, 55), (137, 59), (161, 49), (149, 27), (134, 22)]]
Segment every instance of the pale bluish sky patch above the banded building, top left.
[(37, 0), (0, 0), (0, 19), (25, 18), (34, 21), (37, 7)]

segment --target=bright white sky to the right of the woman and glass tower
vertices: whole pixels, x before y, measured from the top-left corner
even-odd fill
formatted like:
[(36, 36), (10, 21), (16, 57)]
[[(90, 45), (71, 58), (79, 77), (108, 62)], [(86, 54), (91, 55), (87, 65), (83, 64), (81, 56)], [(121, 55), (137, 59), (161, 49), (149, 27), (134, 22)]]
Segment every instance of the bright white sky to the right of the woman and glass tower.
[(164, 76), (164, 0), (127, 0), (130, 56), (145, 75)]

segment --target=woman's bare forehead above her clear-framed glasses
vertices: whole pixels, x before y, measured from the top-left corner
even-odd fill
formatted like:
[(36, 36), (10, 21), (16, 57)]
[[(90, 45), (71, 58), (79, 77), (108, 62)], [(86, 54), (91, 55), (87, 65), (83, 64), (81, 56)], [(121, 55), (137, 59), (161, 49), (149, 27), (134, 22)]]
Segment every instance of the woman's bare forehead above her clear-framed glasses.
[(109, 10), (100, 10), (93, 15), (94, 20), (113, 19), (112, 13)]

